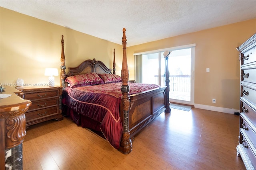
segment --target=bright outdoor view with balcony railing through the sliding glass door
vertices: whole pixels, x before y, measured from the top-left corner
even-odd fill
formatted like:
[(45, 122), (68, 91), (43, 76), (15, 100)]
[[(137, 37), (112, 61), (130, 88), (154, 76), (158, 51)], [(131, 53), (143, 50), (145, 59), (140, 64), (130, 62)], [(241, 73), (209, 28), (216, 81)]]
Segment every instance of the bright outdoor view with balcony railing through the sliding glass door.
[[(194, 103), (194, 76), (191, 75), (191, 73), (194, 73), (194, 47), (170, 51), (172, 51), (168, 59), (170, 101), (184, 104)], [(161, 51), (140, 55), (142, 57), (141, 83), (166, 85), (166, 60), (163, 53)], [(136, 55), (136, 57), (138, 56)]]

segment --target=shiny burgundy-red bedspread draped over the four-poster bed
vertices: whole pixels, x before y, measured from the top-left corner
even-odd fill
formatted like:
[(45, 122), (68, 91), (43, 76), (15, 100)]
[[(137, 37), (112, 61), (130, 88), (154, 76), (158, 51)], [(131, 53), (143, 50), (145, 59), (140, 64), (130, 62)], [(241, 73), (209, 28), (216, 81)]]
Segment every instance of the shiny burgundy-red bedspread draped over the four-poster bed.
[[(122, 138), (122, 122), (120, 120), (122, 82), (68, 88), (62, 103), (74, 111), (100, 123), (100, 130), (108, 142), (116, 149)], [(129, 83), (131, 94), (144, 92), (159, 86), (156, 84)], [(64, 93), (65, 94), (65, 93)]]

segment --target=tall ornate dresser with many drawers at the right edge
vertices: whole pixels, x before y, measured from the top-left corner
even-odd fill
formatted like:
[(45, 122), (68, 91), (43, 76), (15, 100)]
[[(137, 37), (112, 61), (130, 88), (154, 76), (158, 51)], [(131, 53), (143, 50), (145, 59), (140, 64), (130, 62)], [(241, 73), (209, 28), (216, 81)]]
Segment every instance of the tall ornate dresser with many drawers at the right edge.
[(247, 169), (256, 169), (256, 34), (237, 47), (240, 52), (240, 136), (237, 154)]

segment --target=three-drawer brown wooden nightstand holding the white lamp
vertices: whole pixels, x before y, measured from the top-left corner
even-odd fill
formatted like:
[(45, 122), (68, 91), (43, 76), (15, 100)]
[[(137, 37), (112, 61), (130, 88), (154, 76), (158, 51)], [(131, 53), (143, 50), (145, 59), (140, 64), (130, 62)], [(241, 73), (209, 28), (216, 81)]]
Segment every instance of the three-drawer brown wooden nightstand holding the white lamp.
[(51, 119), (62, 120), (61, 95), (62, 87), (24, 87), (22, 98), (30, 100), (32, 105), (26, 115), (26, 127), (48, 121)]

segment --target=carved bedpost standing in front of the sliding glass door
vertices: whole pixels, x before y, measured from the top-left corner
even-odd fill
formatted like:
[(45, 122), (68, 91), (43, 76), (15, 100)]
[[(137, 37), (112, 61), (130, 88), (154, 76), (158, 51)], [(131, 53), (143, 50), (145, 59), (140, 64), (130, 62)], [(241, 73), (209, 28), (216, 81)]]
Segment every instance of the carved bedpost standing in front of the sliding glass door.
[(166, 58), (166, 71), (165, 71), (165, 76), (166, 76), (166, 89), (165, 89), (165, 97), (166, 97), (166, 103), (165, 103), (165, 113), (170, 113), (171, 112), (171, 107), (170, 107), (170, 102), (169, 102), (169, 92), (170, 92), (170, 72), (169, 72), (169, 68), (168, 68), (168, 59), (169, 59), (169, 55), (170, 55), (171, 51), (165, 51), (164, 52), (164, 58)]

